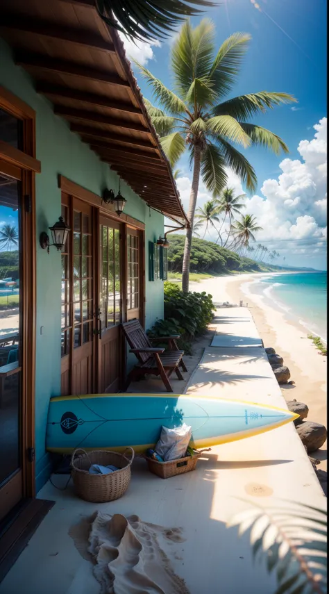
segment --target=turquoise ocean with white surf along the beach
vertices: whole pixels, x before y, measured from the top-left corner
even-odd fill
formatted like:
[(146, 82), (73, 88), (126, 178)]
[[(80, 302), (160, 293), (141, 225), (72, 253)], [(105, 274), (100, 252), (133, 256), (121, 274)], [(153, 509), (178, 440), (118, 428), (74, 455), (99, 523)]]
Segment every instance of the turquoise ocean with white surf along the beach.
[(327, 273), (292, 272), (262, 276), (248, 283), (248, 292), (262, 295), (309, 333), (327, 342)]

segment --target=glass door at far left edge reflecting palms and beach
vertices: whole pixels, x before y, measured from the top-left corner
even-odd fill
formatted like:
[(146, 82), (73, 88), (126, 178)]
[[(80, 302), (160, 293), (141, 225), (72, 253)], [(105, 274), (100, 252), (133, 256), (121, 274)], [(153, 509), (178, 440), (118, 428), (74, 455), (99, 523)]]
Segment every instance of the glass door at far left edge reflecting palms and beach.
[(0, 520), (24, 495), (22, 172), (0, 161)]

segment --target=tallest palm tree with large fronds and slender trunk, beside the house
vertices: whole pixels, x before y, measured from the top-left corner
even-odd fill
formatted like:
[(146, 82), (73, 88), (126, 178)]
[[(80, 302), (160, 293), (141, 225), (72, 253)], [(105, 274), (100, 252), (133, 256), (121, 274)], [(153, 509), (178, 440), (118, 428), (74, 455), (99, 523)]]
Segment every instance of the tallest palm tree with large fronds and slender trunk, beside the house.
[(264, 113), (266, 108), (295, 101), (291, 95), (262, 91), (224, 101), (237, 79), (249, 40), (247, 33), (234, 33), (215, 54), (214, 24), (203, 19), (192, 28), (188, 21), (185, 22), (171, 48), (176, 92), (136, 62), (151, 85), (155, 100), (163, 108), (146, 101), (171, 166), (174, 167), (187, 149), (193, 165), (187, 213), (191, 226), (186, 232), (183, 258), (182, 288), (185, 292), (189, 287), (189, 259), (200, 176), (207, 190), (217, 197), (227, 184), (226, 167), (230, 167), (246, 188), (254, 191), (257, 185), (255, 171), (233, 145), (237, 143), (244, 148), (260, 145), (276, 154), (288, 152), (285, 142), (276, 134), (246, 123), (246, 119)]

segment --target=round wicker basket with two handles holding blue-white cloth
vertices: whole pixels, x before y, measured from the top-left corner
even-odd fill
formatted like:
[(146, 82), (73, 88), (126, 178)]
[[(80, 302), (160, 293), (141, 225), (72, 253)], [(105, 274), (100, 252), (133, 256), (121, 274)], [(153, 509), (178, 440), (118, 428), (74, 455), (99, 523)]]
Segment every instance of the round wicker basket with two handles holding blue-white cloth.
[[(125, 456), (127, 450), (130, 450), (130, 459)], [(82, 452), (83, 456), (76, 458), (77, 452)], [(78, 497), (94, 503), (105, 503), (122, 497), (130, 483), (130, 465), (134, 456), (135, 452), (131, 447), (127, 447), (124, 454), (106, 450), (95, 450), (87, 454), (81, 448), (74, 450), (71, 458), (71, 476)], [(120, 470), (110, 472), (109, 475), (90, 475), (88, 471), (92, 464), (112, 464)]]

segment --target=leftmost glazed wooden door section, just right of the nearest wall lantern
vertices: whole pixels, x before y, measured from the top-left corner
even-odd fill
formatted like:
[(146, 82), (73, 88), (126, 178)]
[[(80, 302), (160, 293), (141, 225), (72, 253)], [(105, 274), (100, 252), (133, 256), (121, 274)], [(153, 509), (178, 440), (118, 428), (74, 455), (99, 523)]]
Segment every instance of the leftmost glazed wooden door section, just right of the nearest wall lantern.
[(62, 252), (62, 395), (94, 392), (94, 248), (92, 206), (62, 195), (71, 232)]

